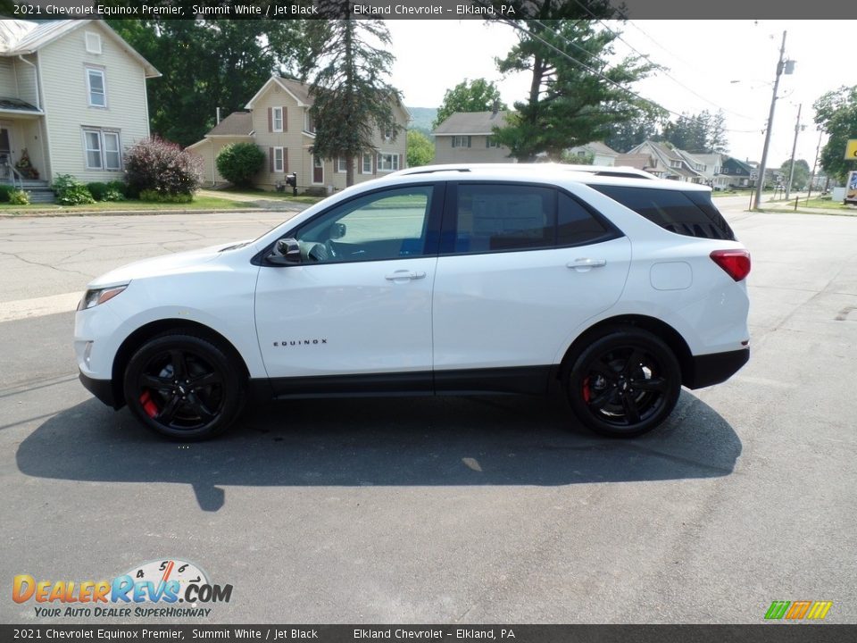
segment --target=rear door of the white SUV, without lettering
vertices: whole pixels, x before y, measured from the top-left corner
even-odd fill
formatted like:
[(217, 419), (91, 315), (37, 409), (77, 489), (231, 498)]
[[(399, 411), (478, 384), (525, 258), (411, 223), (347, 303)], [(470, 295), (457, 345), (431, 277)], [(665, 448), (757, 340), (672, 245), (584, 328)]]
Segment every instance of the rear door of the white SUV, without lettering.
[(543, 391), (570, 333), (619, 299), (628, 238), (551, 186), (462, 181), (448, 186), (446, 203), (437, 389)]

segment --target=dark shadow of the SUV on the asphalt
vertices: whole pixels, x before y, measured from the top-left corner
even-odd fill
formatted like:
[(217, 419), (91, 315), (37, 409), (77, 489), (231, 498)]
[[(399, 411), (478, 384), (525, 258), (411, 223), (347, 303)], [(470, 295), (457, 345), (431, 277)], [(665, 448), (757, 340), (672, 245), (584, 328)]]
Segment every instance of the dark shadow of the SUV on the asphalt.
[(208, 442), (176, 443), (88, 400), (18, 449), (21, 472), (99, 482), (179, 482), (217, 511), (224, 487), (570, 485), (716, 478), (741, 454), (735, 430), (682, 391), (667, 422), (636, 439), (599, 438), (562, 401), (388, 397), (261, 405)]

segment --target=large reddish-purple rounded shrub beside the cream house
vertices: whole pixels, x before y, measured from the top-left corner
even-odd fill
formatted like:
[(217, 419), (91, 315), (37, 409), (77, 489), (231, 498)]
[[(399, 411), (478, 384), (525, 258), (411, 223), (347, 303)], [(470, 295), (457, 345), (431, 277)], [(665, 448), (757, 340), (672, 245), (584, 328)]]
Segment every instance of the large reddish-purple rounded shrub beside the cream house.
[(129, 195), (155, 190), (163, 195), (192, 195), (202, 180), (203, 159), (163, 138), (144, 138), (125, 154)]

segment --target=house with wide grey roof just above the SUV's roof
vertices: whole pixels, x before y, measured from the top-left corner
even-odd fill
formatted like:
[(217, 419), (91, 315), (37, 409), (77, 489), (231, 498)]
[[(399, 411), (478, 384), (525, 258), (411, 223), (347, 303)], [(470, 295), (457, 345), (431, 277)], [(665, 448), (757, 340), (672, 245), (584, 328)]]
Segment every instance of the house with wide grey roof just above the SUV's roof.
[(508, 112), (455, 112), (437, 126), (433, 163), (516, 163), (493, 136)]

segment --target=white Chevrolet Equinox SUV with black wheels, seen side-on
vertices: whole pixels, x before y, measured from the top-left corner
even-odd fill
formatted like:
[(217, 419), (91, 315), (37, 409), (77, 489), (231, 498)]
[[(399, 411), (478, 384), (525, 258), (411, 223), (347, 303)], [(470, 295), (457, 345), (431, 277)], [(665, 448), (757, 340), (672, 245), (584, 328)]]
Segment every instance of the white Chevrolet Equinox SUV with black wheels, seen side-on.
[(225, 430), (254, 397), (555, 391), (588, 428), (636, 436), (682, 385), (746, 363), (749, 271), (709, 188), (415, 168), (255, 241), (105, 274), (74, 346), (96, 397), (183, 440)]

